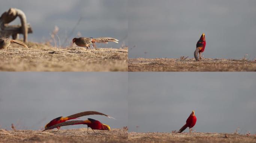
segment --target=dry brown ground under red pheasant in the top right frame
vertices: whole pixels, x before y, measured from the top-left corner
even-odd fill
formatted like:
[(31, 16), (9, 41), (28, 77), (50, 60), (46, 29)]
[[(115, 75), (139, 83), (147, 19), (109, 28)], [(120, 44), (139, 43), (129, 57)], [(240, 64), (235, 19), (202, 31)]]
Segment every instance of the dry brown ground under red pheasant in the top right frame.
[(128, 71), (256, 71), (256, 60), (136, 58), (128, 60)]

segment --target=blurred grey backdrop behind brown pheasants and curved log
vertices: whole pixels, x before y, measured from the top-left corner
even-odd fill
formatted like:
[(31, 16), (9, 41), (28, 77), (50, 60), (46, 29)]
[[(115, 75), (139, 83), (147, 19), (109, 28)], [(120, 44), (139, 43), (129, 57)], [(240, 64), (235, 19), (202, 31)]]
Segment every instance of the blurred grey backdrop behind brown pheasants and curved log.
[[(119, 48), (127, 44), (127, 0), (0, 0), (0, 13), (10, 7), (21, 9), (31, 24), (33, 34), (28, 41), (51, 41), (51, 33), (58, 31), (61, 45), (68, 46), (74, 37), (112, 37), (106, 47)], [(17, 18), (10, 23), (20, 24)], [(23, 35), (20, 35), (23, 38)], [(67, 39), (68, 41), (66, 42)]]

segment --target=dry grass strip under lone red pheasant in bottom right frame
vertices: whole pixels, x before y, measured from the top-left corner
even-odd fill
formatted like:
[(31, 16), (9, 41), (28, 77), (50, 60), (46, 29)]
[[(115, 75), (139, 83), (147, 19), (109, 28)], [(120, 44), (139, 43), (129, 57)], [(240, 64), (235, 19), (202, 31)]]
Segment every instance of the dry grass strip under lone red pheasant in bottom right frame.
[[(225, 137), (226, 135), (226, 137)], [(224, 133), (128, 133), (130, 143), (255, 143), (256, 136)]]

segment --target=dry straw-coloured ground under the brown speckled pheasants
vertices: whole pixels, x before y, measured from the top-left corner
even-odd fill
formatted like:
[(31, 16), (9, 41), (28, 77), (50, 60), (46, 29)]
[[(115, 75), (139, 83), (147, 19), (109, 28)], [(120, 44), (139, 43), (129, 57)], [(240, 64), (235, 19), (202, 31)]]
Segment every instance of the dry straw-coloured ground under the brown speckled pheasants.
[(83, 47), (57, 49), (48, 44), (28, 42), (29, 48), (11, 44), (0, 50), (0, 71), (128, 71), (127, 48)]

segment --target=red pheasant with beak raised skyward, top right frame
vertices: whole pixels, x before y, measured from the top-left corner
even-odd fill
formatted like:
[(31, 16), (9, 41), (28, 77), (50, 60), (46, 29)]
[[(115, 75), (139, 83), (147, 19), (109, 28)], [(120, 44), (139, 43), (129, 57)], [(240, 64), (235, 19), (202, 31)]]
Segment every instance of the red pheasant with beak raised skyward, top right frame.
[[(196, 50), (194, 52), (194, 57), (195, 57), (196, 61), (199, 61), (202, 59), (201, 55), (204, 52), (205, 45), (206, 45), (206, 41), (205, 41), (205, 35), (203, 33), (202, 36), (200, 37), (200, 39), (198, 40), (198, 42), (196, 43)], [(198, 53), (199, 53), (199, 59), (197, 57)]]

